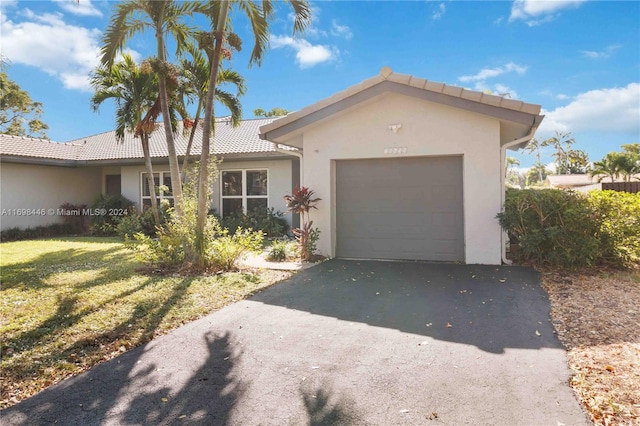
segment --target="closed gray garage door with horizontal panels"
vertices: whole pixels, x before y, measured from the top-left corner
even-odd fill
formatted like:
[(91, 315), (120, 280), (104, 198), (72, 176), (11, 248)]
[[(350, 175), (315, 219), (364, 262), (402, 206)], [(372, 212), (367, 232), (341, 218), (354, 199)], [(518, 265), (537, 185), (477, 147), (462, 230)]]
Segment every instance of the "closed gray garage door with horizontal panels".
[(464, 260), (462, 157), (336, 162), (339, 257)]

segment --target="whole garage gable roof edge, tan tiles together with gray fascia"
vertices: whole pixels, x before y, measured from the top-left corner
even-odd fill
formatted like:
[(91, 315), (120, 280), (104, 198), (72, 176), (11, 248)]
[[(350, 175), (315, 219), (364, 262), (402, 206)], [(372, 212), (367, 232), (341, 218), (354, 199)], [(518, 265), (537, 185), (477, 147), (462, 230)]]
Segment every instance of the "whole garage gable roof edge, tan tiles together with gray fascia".
[(262, 126), (260, 137), (280, 143), (284, 135), (295, 134), (303, 127), (386, 91), (488, 115), (527, 130), (537, 128), (544, 118), (539, 115), (540, 105), (394, 73), (391, 68), (383, 67), (375, 77)]

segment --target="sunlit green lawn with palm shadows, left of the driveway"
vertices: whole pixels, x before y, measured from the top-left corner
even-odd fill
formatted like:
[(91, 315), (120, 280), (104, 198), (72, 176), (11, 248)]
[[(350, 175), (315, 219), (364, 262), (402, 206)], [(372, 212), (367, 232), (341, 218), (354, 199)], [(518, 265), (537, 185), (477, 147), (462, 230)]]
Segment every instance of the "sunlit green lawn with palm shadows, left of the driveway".
[(286, 276), (167, 277), (141, 266), (111, 238), (0, 244), (0, 407)]

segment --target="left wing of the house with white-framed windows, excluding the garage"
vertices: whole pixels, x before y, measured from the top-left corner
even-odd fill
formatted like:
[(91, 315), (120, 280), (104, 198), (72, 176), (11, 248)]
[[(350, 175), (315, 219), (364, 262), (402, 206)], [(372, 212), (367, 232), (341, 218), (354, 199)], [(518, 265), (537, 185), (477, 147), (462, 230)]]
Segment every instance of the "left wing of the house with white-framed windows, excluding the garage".
[[(258, 206), (286, 210), (282, 197), (298, 185), (300, 160), (295, 151), (259, 138), (260, 126), (273, 120), (244, 120), (239, 127), (228, 119), (217, 120), (213, 146), (222, 162), (212, 207), (218, 213)], [(170, 187), (164, 131), (158, 127), (149, 141), (153, 170), (156, 182)], [(191, 152), (200, 152), (201, 136), (197, 131)], [(175, 134), (181, 164), (188, 141), (187, 133)], [(151, 203), (142, 145), (132, 133), (122, 142), (111, 131), (67, 143), (0, 135), (0, 173), (2, 229), (59, 222), (61, 204), (90, 206), (99, 194), (121, 194), (138, 208)], [(168, 193), (160, 198), (172, 197)], [(286, 218), (296, 225), (297, 218)]]

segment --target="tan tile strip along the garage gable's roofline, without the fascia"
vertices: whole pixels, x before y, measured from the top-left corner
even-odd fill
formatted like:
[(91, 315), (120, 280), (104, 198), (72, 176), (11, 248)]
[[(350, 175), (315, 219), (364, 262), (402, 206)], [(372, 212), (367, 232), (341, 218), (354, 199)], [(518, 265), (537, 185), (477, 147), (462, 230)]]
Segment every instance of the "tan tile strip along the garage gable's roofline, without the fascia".
[(264, 127), (262, 127), (262, 129), (260, 129), (260, 131), (263, 137), (265, 137), (268, 132), (271, 132), (274, 129), (283, 127), (289, 123), (293, 123), (296, 120), (320, 111), (330, 105), (336, 104), (344, 99), (363, 92), (364, 90), (385, 81), (399, 83), (405, 86), (423, 89), (428, 92), (449, 95), (468, 101), (478, 102), (480, 104), (518, 111), (526, 114), (537, 115), (540, 113), (541, 109), (541, 106), (536, 104), (529, 104), (515, 99), (507, 99), (502, 96), (490, 95), (487, 93), (477, 92), (462, 87), (450, 86), (445, 83), (438, 83), (435, 81), (417, 78), (409, 74), (395, 73), (391, 68), (385, 66), (380, 70), (380, 73), (378, 75), (368, 78), (359, 84), (350, 86), (341, 92), (338, 92), (328, 98), (316, 102), (315, 104), (292, 112), (291, 114), (288, 114), (287, 116), (282, 117), (273, 123), (265, 125)]

